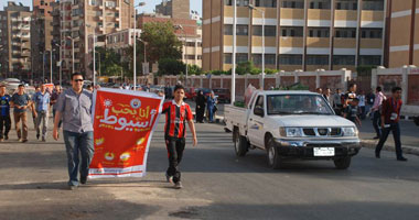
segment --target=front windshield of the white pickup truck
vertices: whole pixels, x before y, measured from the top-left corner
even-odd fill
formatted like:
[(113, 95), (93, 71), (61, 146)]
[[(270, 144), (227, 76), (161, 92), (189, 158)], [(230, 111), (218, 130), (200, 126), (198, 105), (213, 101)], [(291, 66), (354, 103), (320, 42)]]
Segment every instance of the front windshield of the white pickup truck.
[(320, 95), (267, 96), (268, 114), (334, 114)]

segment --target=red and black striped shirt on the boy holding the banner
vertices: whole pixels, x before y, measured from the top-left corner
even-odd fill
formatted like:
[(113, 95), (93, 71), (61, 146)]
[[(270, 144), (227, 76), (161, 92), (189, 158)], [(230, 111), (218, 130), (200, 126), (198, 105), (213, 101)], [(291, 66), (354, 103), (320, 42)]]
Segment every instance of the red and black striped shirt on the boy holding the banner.
[(162, 113), (165, 113), (165, 138), (184, 138), (186, 121), (193, 119), (191, 107), (182, 102), (178, 106), (174, 100), (168, 101), (163, 105)]

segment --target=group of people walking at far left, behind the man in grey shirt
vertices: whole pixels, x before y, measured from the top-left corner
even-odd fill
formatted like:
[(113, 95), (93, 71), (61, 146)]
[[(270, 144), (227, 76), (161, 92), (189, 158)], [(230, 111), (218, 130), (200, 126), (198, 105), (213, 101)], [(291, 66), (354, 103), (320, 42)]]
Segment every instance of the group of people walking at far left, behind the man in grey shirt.
[(0, 142), (9, 140), (12, 123), (10, 117), (11, 109), (13, 109), (14, 129), (19, 142), (28, 142), (28, 110), (32, 112), (36, 139), (41, 139), (41, 141), (45, 142), (50, 109), (52, 107), (53, 113), (55, 112), (55, 102), (60, 94), (60, 85), (56, 85), (52, 92), (42, 84), (35, 88), (35, 94), (33, 94), (32, 97), (25, 92), (24, 85), (19, 85), (18, 91), (10, 96), (6, 85), (0, 85)]

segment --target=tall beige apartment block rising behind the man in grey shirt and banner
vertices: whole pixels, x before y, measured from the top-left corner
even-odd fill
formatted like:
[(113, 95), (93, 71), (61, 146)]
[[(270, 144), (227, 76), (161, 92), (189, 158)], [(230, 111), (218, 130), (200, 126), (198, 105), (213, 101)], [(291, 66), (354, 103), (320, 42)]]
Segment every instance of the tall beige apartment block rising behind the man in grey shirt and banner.
[(61, 0), (60, 3), (63, 72), (86, 73), (93, 79), (89, 44), (93, 45), (94, 36), (132, 28), (133, 0)]

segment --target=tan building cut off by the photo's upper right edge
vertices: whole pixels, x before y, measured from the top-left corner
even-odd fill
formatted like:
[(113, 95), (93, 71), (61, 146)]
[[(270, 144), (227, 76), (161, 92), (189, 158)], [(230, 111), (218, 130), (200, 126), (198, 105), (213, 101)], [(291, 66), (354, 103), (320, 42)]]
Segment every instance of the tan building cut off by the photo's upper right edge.
[(385, 65), (419, 66), (419, 0), (387, 1)]

